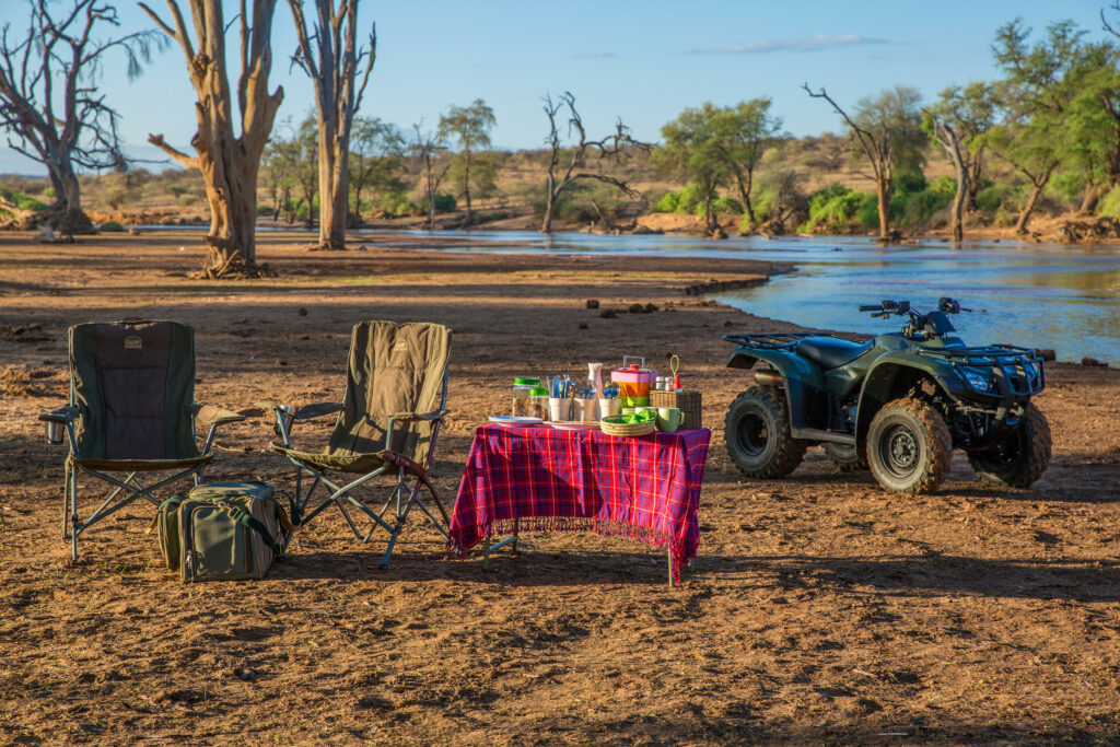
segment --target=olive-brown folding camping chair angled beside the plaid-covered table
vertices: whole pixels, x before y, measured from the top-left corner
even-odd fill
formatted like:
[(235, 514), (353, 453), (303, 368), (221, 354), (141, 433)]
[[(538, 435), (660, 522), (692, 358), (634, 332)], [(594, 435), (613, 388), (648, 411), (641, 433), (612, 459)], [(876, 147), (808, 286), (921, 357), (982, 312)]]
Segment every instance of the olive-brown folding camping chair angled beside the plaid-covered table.
[[(450, 523), (436, 487), (428, 479), (436, 439), (447, 405), (447, 361), (451, 347), (451, 330), (442, 325), (393, 321), (363, 321), (355, 325), (351, 338), (346, 393), (342, 403), (307, 404), (286, 408), (262, 403), (276, 415), (276, 432), (282, 445), (269, 447), (288, 457), (296, 466), (297, 506), (306, 525), (334, 505), (343, 514), (354, 536), (367, 542), (379, 527), (389, 532), (389, 547), (381, 568), (389, 566), (393, 545), (412, 506), (418, 506), (444, 536)], [(292, 447), (291, 429), (300, 420), (337, 413), (335, 428), (321, 452), (299, 451)], [(356, 476), (339, 485), (326, 473), (338, 471)], [(301, 478), (311, 478), (302, 493)], [(375, 511), (354, 493), (355, 488), (380, 475), (395, 479), (389, 499)], [(409, 478), (414, 484), (409, 486)], [(344, 482), (339, 479), (339, 482)], [(329, 495), (314, 510), (307, 511), (315, 488), (323, 484)], [(444, 519), (432, 515), (420, 497), (420, 486), (431, 497)], [(404, 497), (407, 495), (407, 497)], [(385, 520), (385, 512), (395, 499), (395, 522)], [(373, 522), (364, 534), (351, 517), (348, 508), (357, 508)]]

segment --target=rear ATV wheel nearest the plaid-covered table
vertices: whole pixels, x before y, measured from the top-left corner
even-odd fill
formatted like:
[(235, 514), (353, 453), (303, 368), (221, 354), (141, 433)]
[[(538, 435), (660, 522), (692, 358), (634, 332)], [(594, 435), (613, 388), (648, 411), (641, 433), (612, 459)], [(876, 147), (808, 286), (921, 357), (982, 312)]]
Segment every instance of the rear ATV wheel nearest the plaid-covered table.
[(784, 477), (805, 456), (809, 442), (793, 438), (785, 395), (769, 386), (748, 386), (727, 409), (727, 454), (747, 477)]

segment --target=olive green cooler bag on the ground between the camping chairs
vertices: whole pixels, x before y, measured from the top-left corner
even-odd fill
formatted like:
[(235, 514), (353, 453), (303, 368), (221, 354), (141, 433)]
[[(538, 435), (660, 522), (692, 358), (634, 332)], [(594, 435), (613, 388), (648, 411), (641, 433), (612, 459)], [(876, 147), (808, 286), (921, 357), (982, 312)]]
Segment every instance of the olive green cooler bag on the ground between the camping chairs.
[(271, 485), (208, 483), (160, 506), (168, 568), (184, 581), (261, 579), (293, 529)]

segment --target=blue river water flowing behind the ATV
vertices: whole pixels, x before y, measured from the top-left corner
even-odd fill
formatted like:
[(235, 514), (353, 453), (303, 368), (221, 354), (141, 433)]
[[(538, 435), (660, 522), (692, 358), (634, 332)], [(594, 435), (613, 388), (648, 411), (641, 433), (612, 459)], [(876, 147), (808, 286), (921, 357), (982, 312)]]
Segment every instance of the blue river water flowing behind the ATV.
[[(376, 232), (381, 233), (381, 232)], [(385, 232), (390, 234), (392, 232)], [(423, 232), (417, 232), (423, 235)], [(441, 242), (450, 232), (441, 231)], [(1053, 348), (1058, 360), (1120, 364), (1120, 246), (943, 241), (881, 246), (868, 239), (712, 241), (689, 236), (472, 231), (450, 251), (674, 255), (766, 260), (796, 265), (757, 288), (711, 298), (756, 316), (821, 329), (890, 332), (899, 317), (872, 319), (860, 304), (908, 299), (920, 310), (951, 296), (972, 314), (953, 319), (971, 345)], [(485, 242), (479, 249), (474, 242)]]

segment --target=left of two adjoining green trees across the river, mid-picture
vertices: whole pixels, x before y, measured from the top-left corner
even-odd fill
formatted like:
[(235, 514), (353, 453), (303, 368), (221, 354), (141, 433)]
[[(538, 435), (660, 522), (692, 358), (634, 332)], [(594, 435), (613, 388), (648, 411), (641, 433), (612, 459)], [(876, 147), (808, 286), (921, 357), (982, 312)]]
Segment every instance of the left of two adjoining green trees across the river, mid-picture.
[(703, 203), (704, 227), (716, 230), (712, 202), (731, 176), (719, 132), (720, 109), (704, 103), (700, 109), (685, 109), (675, 120), (661, 128), (664, 144), (654, 151), (654, 162), (661, 170), (675, 174), (696, 184)]

